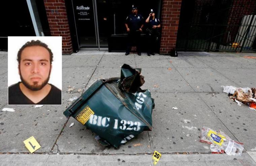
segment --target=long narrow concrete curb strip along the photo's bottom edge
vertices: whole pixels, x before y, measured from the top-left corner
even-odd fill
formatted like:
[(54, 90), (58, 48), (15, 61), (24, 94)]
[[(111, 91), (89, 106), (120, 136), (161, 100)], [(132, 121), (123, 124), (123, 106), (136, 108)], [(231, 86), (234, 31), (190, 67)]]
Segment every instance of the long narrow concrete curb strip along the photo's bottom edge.
[[(127, 166), (127, 165), (147, 165), (154, 166), (150, 155), (25, 155), (25, 154), (4, 154), (0, 157), (0, 165), (111, 165), (111, 166)], [(159, 166), (164, 165), (255, 165), (253, 159), (247, 154), (242, 156), (228, 156), (225, 154), (191, 154), (191, 155), (173, 155), (162, 154)]]

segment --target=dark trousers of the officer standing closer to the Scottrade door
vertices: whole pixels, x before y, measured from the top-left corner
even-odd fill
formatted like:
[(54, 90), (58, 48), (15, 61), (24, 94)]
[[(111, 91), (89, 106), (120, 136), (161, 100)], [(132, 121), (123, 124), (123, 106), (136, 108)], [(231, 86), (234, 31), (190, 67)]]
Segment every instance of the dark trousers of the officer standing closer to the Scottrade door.
[(140, 31), (130, 31), (128, 32), (128, 39), (127, 39), (127, 49), (126, 52), (130, 52), (131, 47), (133, 45), (136, 46), (137, 48), (137, 52), (141, 53), (140, 50), (140, 43), (141, 43), (141, 39), (140, 39)]

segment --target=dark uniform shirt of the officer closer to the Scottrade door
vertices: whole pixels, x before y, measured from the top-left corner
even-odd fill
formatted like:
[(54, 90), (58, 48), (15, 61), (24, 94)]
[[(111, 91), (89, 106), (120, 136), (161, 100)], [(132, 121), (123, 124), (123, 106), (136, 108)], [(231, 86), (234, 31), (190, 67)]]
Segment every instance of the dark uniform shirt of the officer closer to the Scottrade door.
[(128, 17), (126, 17), (125, 23), (128, 24), (128, 27), (131, 31), (137, 31), (144, 23), (144, 18), (140, 14), (130, 14)]

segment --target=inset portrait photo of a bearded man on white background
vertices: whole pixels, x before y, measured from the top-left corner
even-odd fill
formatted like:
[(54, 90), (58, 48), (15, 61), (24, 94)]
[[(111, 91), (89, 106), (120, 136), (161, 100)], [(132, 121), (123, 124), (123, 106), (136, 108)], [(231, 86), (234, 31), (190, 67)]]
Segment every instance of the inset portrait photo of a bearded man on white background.
[(61, 105), (62, 37), (8, 37), (8, 105)]

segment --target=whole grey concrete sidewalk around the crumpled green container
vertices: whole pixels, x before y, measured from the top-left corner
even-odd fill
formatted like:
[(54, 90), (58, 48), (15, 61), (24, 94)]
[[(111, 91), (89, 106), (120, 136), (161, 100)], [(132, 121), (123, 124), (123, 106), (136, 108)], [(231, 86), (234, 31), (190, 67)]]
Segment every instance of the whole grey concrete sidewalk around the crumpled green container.
[[(161, 162), (162, 165), (170, 165), (170, 162), (174, 165), (256, 165), (256, 112), (248, 106), (236, 105), (222, 92), (221, 87), (256, 87), (256, 58), (250, 56), (256, 57), (256, 53), (179, 52), (178, 57), (170, 57), (79, 51), (62, 56), (62, 106), (43, 106), (35, 109), (33, 106), (7, 105), (7, 53), (0, 52), (0, 107), (1, 110), (6, 107), (16, 110), (0, 111), (0, 161), (9, 158), (12, 161), (21, 159), (26, 163), (25, 159), (30, 158), (44, 165), (44, 162), (54, 159), (57, 165), (62, 161), (62, 156), (63, 159), (77, 163), (80, 161), (83, 164), (87, 164), (85, 161), (93, 157), (95, 162), (102, 159), (102, 163), (96, 165), (110, 161), (113, 161), (110, 165), (131, 165), (134, 164), (132, 161), (153, 165), (150, 159), (156, 150), (163, 154), (158, 165), (161, 165)], [(67, 93), (67, 87), (70, 85), (76, 89), (87, 89), (98, 78), (118, 77), (124, 63), (142, 68), (141, 74), (145, 76), (146, 82), (141, 88), (150, 89), (152, 97), (155, 98), (153, 129), (142, 132), (118, 149), (104, 148), (94, 139), (95, 135), (90, 130), (73, 118), (66, 119), (62, 114), (70, 104), (67, 99), (81, 95)], [(177, 107), (178, 110), (172, 110), (172, 107)], [(74, 126), (69, 127), (72, 122)], [(199, 142), (200, 129), (203, 126), (221, 129), (232, 139), (243, 142), (243, 155), (238, 157), (208, 154), (211, 153), (210, 146)], [(192, 136), (186, 137), (187, 134)], [(28, 153), (23, 141), (30, 136), (34, 136), (41, 145), (35, 152), (38, 155), (23, 154)], [(134, 147), (135, 143), (142, 145)], [(130, 163), (115, 161), (117, 157), (121, 159), (121, 156)], [(137, 156), (138, 159), (135, 158)], [(104, 157), (106, 160), (103, 160)], [(9, 164), (7, 161), (0, 162), (0, 165)], [(54, 162), (47, 164), (54, 165)], [(71, 163), (66, 163), (69, 164)]]

